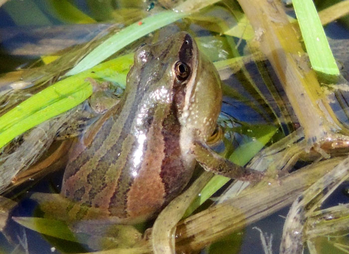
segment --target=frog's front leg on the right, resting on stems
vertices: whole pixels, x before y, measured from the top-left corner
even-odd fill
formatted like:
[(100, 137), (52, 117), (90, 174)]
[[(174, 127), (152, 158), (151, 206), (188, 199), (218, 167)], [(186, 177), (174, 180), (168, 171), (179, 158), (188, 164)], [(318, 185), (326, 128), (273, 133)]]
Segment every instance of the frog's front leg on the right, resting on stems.
[(201, 141), (194, 141), (191, 150), (196, 161), (206, 171), (248, 182), (258, 182), (264, 176), (262, 172), (241, 167), (224, 159)]

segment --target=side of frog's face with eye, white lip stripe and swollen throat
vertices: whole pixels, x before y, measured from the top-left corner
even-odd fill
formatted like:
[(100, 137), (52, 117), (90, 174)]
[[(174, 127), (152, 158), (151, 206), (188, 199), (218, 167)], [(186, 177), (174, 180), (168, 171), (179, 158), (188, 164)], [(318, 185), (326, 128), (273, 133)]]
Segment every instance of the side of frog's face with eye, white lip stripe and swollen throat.
[(222, 104), (221, 81), (213, 63), (199, 52), (194, 39), (181, 33), (182, 47), (173, 65), (175, 103), (183, 134), (206, 141)]

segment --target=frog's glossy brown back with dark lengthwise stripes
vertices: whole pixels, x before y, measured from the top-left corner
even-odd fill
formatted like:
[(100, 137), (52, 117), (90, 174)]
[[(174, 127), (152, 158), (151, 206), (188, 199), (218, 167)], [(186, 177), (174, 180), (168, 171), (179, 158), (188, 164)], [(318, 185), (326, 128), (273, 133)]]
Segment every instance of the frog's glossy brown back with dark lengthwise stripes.
[(61, 191), (73, 201), (137, 221), (151, 217), (173, 199), (189, 181), (194, 166), (181, 155), (174, 91), (162, 85), (164, 78), (173, 75), (168, 71), (173, 63), (165, 61), (164, 53), (147, 52), (147, 61), (157, 60), (156, 71), (150, 72), (152, 66), (142, 63), (144, 54), (139, 50), (124, 100), (73, 148)]

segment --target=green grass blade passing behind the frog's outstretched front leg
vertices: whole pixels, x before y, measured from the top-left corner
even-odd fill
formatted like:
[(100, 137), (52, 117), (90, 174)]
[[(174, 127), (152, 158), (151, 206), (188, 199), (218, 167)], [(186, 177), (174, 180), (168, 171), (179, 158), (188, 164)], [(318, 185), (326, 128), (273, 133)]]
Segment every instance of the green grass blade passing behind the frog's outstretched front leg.
[[(265, 144), (273, 137), (275, 132), (278, 130), (277, 127), (272, 125), (257, 125), (251, 126), (250, 139), (240, 145), (230, 155), (229, 160), (237, 165), (244, 166), (248, 161), (261, 150)], [(192, 212), (196, 210), (201, 204), (209, 199), (217, 190), (219, 190), (224, 184), (226, 184), (230, 178), (215, 175), (202, 189), (200, 195), (191, 203), (189, 208), (186, 210), (183, 218), (188, 217)]]

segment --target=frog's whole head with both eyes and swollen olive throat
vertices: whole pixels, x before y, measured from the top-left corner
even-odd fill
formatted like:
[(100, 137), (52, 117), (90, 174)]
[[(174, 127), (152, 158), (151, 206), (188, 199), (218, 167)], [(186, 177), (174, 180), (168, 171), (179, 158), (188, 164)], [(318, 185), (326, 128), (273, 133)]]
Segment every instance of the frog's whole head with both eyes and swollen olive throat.
[(222, 101), (220, 78), (186, 32), (140, 48), (128, 79), (137, 81), (128, 85), (137, 84), (149, 103), (170, 104), (187, 138), (205, 141), (212, 134)]

